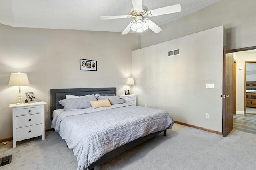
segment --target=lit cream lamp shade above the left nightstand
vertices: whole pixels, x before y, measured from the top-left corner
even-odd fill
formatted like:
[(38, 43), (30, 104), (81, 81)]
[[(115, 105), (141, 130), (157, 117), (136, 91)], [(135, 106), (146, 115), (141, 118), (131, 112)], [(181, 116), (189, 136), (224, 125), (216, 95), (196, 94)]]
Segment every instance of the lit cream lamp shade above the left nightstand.
[(9, 86), (26, 86), (29, 85), (26, 73), (12, 73), (9, 80)]

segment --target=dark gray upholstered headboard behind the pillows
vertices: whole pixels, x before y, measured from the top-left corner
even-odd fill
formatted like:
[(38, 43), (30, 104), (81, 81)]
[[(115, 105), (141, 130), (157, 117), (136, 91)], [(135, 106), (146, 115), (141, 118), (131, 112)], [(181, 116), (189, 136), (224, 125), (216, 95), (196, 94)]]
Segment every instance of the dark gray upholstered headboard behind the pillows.
[(68, 88), (68, 89), (51, 89), (51, 120), (52, 113), (56, 109), (63, 109), (64, 107), (59, 104), (59, 101), (66, 98), (66, 94), (72, 94), (76, 96), (84, 96), (87, 94), (116, 94), (116, 88)]

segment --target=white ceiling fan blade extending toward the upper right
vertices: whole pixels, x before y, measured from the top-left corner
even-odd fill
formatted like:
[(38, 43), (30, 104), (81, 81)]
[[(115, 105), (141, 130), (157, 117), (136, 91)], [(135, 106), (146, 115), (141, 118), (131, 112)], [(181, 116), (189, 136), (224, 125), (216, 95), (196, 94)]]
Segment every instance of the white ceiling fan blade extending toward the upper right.
[(163, 8), (150, 10), (148, 11), (148, 16), (160, 16), (160, 15), (171, 14), (171, 13), (180, 12), (180, 11), (181, 11), (180, 4), (176, 4), (172, 6), (166, 6)]

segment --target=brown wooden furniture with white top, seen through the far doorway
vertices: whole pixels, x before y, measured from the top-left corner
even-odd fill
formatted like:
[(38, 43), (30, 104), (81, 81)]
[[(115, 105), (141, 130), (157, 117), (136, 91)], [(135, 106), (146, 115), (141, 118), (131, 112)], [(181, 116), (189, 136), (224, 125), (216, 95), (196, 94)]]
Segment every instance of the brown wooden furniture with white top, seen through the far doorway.
[(246, 82), (245, 106), (256, 107), (256, 82)]

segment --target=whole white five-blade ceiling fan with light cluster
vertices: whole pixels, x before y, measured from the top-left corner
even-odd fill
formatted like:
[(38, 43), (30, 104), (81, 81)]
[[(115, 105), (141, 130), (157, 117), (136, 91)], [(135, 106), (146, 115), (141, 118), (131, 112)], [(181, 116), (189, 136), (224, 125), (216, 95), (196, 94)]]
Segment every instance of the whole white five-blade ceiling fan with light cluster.
[(160, 31), (162, 31), (162, 29), (146, 17), (160, 16), (164, 14), (171, 14), (171, 13), (181, 11), (180, 4), (166, 6), (163, 8), (158, 8), (158, 9), (148, 11), (148, 8), (142, 5), (142, 0), (132, 0), (132, 6), (133, 8), (131, 10), (130, 15), (102, 16), (100, 17), (100, 19), (109, 20), (109, 19), (130, 18), (130, 17), (134, 18), (135, 20), (129, 23), (129, 25), (122, 32), (122, 35), (127, 34), (130, 31), (130, 29), (132, 29), (132, 31), (142, 32), (148, 28), (154, 31), (154, 33), (159, 33)]

